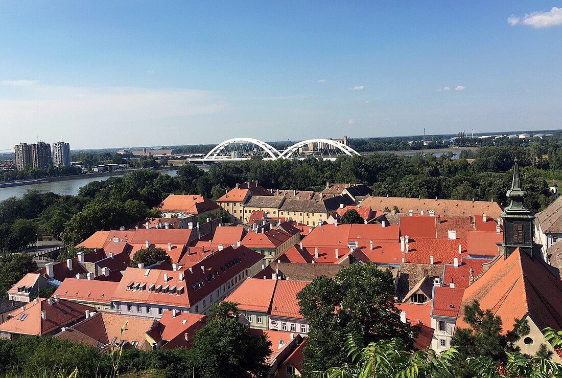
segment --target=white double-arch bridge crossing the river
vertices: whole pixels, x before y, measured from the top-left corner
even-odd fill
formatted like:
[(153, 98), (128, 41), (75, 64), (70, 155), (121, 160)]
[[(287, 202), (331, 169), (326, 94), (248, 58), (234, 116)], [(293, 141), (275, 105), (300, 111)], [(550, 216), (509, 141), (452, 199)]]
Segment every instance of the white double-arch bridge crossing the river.
[(336, 160), (339, 155), (360, 155), (341, 142), (330, 139), (309, 139), (294, 143), (285, 150), (277, 150), (269, 143), (253, 138), (233, 138), (216, 145), (209, 153), (200, 159), (188, 159), (192, 163), (217, 163), (220, 161), (250, 160), (261, 158), (264, 160), (277, 159), (306, 159), (323, 158)]

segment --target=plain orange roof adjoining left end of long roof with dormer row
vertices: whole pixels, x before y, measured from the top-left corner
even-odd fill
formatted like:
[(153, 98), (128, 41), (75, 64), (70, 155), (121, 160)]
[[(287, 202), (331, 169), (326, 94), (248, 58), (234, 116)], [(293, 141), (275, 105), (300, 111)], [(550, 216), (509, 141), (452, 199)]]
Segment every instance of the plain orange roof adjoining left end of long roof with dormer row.
[(111, 303), (111, 296), (117, 289), (119, 282), (78, 280), (77, 278), (66, 278), (55, 294), (61, 299), (73, 302)]

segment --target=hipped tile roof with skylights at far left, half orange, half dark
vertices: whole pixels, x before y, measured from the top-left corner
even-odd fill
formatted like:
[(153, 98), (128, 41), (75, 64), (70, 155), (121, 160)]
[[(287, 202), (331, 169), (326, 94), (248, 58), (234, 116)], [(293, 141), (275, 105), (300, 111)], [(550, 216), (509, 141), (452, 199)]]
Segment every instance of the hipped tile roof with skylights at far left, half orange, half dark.
[[(60, 299), (58, 303), (53, 300), (49, 305), (46, 298), (38, 298), (37, 303), (30, 302), (13, 311), (11, 313), (13, 317), (0, 324), (0, 331), (11, 334), (45, 335), (83, 318), (86, 310), (95, 309), (64, 299)], [(45, 320), (41, 317), (42, 311), (46, 312)]]

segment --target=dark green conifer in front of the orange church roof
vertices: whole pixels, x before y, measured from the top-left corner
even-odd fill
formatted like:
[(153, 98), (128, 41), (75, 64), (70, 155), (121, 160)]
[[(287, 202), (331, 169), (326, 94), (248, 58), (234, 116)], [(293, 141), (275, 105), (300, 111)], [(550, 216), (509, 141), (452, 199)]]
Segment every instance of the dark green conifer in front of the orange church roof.
[(470, 328), (457, 328), (451, 339), (451, 344), (459, 351), (451, 361), (454, 377), (474, 376), (475, 370), (468, 363), (469, 358), (482, 356), (505, 363), (509, 358), (507, 353), (518, 352), (516, 341), (530, 330), (527, 321), (515, 319), (513, 330), (504, 334), (501, 318), (494, 316), (490, 309), (481, 309), (477, 300), (465, 306), (463, 320)]

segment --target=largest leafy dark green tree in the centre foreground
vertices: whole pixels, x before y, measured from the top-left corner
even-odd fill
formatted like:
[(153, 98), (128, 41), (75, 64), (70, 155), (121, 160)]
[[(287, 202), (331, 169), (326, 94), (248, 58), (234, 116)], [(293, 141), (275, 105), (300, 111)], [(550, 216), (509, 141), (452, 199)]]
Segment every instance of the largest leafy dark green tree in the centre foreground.
[(400, 321), (400, 311), (389, 300), (393, 296), (391, 273), (373, 263), (351, 264), (334, 280), (320, 276), (306, 285), (297, 294), (300, 313), (310, 325), (304, 375), (347, 362), (342, 345), (351, 332), (369, 343), (400, 337), (413, 345), (410, 326)]

